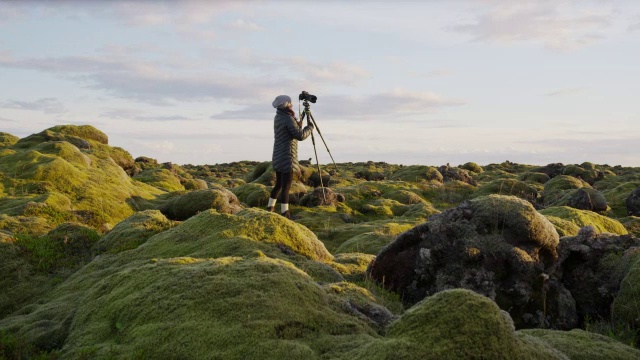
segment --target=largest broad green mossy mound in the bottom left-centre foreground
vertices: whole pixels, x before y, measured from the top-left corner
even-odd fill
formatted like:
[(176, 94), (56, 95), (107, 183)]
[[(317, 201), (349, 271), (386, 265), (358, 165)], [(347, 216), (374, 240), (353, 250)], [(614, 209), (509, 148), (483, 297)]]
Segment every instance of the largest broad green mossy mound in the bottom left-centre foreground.
[(61, 353), (313, 359), (375, 336), (330, 298), (291, 263), (268, 257), (131, 264), (87, 291)]

